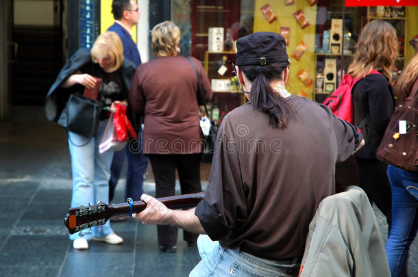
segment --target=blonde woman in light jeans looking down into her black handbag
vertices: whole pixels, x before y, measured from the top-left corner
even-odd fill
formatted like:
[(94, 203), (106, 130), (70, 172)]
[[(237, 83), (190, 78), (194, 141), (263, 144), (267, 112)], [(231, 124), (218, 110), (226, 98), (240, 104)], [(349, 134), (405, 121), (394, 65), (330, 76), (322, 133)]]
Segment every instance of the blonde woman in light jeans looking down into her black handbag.
[[(117, 103), (127, 105), (127, 92), (135, 72), (130, 61), (123, 60), (123, 46), (119, 36), (106, 31), (101, 34), (91, 49), (79, 49), (62, 68), (56, 82), (47, 94), (46, 113), (49, 120), (57, 120), (70, 93), (84, 92), (84, 88), (93, 88), (96, 78), (101, 79), (97, 101), (103, 107), (114, 107)], [(100, 116), (97, 132), (88, 141), (87, 137), (69, 132), (69, 150), (71, 170), (73, 172), (73, 197), (71, 207), (88, 206), (99, 201), (108, 203), (110, 163), (112, 152), (99, 153), (99, 144), (108, 120), (108, 111)], [(82, 231), (84, 232), (84, 231)], [(123, 243), (116, 235), (110, 222), (101, 228), (93, 227), (92, 233), (79, 237), (79, 233), (70, 235), (73, 248), (88, 249), (88, 240), (104, 241), (110, 244)]]

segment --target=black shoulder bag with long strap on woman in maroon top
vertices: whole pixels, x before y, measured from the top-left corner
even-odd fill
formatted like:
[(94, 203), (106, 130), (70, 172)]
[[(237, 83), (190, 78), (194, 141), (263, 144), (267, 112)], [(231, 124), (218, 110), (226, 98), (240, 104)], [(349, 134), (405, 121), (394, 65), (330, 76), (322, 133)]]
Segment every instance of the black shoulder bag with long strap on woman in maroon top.
[[(204, 96), (203, 89), (201, 88), (201, 82), (199, 78), (199, 74), (197, 73), (196, 66), (193, 64), (193, 61), (190, 59), (190, 57), (187, 57), (190, 64), (193, 66), (193, 70), (195, 70), (196, 77), (197, 77), (197, 104), (203, 105), (205, 107), (206, 116), (209, 118), (208, 113), (208, 107), (206, 107), (206, 100)], [(217, 135), (218, 135), (218, 125), (213, 120), (210, 120), (210, 128), (209, 128), (209, 134), (203, 135), (203, 151), (201, 155), (201, 161), (204, 161), (205, 163), (210, 163), (213, 158), (214, 153), (214, 146), (217, 142)]]

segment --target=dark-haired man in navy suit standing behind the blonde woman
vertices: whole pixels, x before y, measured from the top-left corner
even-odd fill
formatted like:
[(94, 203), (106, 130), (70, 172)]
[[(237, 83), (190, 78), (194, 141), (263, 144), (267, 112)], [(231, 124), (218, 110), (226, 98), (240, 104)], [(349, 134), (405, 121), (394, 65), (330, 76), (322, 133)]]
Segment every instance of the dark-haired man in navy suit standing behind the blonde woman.
[[(131, 29), (138, 24), (140, 11), (134, 0), (114, 0), (112, 2), (112, 14), (114, 24), (108, 28), (108, 31), (114, 31), (122, 40), (123, 56), (127, 60), (134, 62), (136, 66), (141, 64), (138, 47), (132, 40)], [(136, 118), (128, 105), (127, 116), (137, 133), (142, 133), (142, 118)], [(120, 151), (114, 153), (112, 166), (110, 167), (109, 180), (109, 202), (112, 201), (116, 184), (121, 176), (125, 155), (127, 157), (127, 176), (125, 197), (133, 200), (140, 200), (143, 194), (144, 174), (147, 170), (148, 158), (142, 153), (142, 135), (138, 135), (138, 141), (130, 143)], [(112, 221), (126, 219), (126, 215), (112, 217)]]

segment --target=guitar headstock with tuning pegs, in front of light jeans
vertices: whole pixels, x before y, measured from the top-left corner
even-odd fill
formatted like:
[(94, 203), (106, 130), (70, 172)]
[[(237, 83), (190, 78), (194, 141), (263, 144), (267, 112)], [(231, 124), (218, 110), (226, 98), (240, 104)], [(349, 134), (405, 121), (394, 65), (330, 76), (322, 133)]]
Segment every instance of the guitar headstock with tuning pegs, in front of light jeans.
[(88, 207), (79, 206), (69, 209), (64, 217), (64, 225), (70, 234), (74, 234), (84, 229), (104, 225), (111, 215), (108, 205), (103, 202)]

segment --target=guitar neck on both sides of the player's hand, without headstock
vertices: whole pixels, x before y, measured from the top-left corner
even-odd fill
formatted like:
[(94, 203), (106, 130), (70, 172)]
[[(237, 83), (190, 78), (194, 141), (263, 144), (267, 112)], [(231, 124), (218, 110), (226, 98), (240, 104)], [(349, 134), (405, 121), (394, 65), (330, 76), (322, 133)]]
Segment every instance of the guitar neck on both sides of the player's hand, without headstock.
[[(180, 196), (169, 196), (158, 198), (162, 204), (166, 205), (169, 209), (189, 209), (196, 207), (197, 204), (204, 198), (204, 193), (199, 194), (184, 194)], [(131, 211), (132, 206), (132, 211)], [(130, 213), (140, 213), (145, 210), (147, 204), (141, 200), (134, 201), (132, 204), (119, 203), (113, 204), (108, 207), (110, 216), (113, 215), (129, 215)]]

